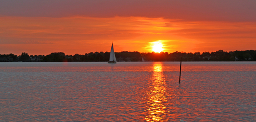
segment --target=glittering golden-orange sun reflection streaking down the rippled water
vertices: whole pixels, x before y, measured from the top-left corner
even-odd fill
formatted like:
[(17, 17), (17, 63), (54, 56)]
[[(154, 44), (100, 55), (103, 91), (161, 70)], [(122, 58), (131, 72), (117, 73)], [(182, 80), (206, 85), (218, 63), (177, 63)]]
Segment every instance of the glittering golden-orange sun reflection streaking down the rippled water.
[(154, 64), (154, 73), (147, 92), (146, 121), (168, 121), (166, 81), (162, 72), (162, 64)]

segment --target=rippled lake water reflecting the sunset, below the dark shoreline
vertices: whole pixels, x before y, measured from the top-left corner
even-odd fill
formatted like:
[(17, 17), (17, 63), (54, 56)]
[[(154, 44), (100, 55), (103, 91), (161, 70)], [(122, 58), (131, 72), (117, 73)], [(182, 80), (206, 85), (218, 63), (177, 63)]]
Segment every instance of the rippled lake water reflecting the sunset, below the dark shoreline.
[(0, 121), (256, 121), (256, 62), (2, 62)]

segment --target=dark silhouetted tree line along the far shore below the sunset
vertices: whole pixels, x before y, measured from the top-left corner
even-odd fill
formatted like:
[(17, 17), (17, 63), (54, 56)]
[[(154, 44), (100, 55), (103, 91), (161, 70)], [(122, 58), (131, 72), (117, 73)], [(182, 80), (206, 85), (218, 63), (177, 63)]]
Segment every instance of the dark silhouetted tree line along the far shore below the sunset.
[[(96, 62), (109, 61), (110, 52), (90, 52), (85, 55), (65, 55), (63, 52), (52, 52), (49, 55), (28, 55), (22, 52), (14, 54), (0, 54), (0, 62), (31, 61), (31, 62)], [(115, 52), (117, 61), (256, 61), (256, 50), (230, 51), (218, 50), (215, 52)]]

